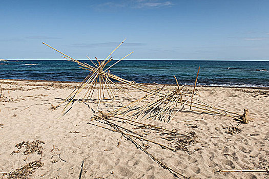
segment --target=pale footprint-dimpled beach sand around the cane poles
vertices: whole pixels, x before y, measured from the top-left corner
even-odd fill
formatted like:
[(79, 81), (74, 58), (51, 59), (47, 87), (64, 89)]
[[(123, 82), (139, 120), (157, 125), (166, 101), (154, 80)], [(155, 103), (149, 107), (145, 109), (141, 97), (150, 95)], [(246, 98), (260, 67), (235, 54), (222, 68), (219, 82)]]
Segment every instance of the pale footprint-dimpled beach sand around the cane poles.
[[(30, 178), (79, 178), (80, 175), (81, 178), (176, 178), (120, 133), (87, 124), (96, 102), (76, 103), (58, 119), (64, 106), (52, 109), (51, 105), (65, 99), (77, 85), (0, 80), (4, 101), (0, 102), (0, 172), (12, 172), (40, 159), (42, 165), (36, 167)], [(133, 98), (143, 95), (134, 92)], [(192, 178), (269, 178), (266, 172), (217, 172), (268, 168), (269, 90), (197, 87), (195, 97), (240, 114), (247, 108), (249, 124), (241, 124), (238, 127), (241, 132), (231, 135), (225, 133), (227, 127), (235, 127), (238, 122), (225, 116), (186, 112), (178, 113), (169, 123), (142, 121), (177, 128), (182, 133), (194, 131), (197, 135), (189, 151), (174, 152), (157, 145), (150, 145), (148, 151), (175, 171)], [(106, 104), (100, 105), (100, 109), (105, 107)], [(203, 120), (178, 123), (193, 119)], [(23, 141), (34, 143), (16, 147)], [(32, 144), (36, 148), (29, 150), (35, 151), (27, 152), (25, 146)]]

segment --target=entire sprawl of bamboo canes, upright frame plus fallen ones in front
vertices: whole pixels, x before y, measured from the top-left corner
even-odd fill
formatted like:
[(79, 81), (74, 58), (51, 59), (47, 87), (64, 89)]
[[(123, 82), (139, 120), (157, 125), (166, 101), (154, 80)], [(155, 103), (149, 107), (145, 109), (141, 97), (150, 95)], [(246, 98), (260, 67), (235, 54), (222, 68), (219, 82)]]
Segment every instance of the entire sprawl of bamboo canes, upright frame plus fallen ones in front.
[[(97, 61), (96, 63), (87, 56), (91, 65), (85, 62), (80, 62), (43, 42), (43, 44), (49, 48), (59, 52), (66, 60), (77, 63), (80, 69), (89, 71), (88, 76), (65, 100), (56, 106), (52, 105), (51, 108), (57, 109), (63, 104), (64, 108), (60, 116), (62, 117), (75, 103), (84, 102), (87, 104), (86, 102), (91, 102), (91, 104), (95, 105), (95, 107), (93, 107), (95, 109), (87, 104), (93, 111), (93, 118), (87, 124), (120, 133), (121, 137), (125, 137), (127, 140), (131, 141), (138, 149), (148, 154), (162, 168), (169, 170), (175, 176), (188, 178), (171, 167), (168, 167), (164, 162), (161, 162), (152, 155), (148, 149), (150, 150), (152, 145), (157, 145), (162, 149), (168, 149), (173, 152), (178, 150), (189, 152), (190, 150), (188, 147), (195, 143), (197, 138), (196, 133), (194, 131), (189, 133), (179, 133), (177, 130), (169, 130), (162, 126), (155, 126), (141, 121), (155, 120), (160, 122), (170, 122), (179, 111), (187, 111), (190, 113), (195, 112), (197, 114), (221, 115), (247, 124), (249, 110), (244, 109), (244, 114), (240, 115), (233, 111), (214, 107), (213, 105), (198, 99), (200, 95), (197, 93), (196, 84), (200, 66), (192, 90), (184, 88), (184, 85), (179, 86), (176, 76), (174, 76), (177, 85), (176, 88), (168, 88), (165, 85), (157, 83), (156, 85), (140, 84), (111, 74), (110, 69), (114, 65), (133, 53), (129, 53), (106, 68), (106, 66), (113, 60), (111, 55), (124, 41), (125, 39), (105, 60), (95, 58)], [(121, 85), (118, 85), (116, 82), (120, 82)], [(134, 98), (131, 93), (132, 90), (138, 91), (143, 94), (143, 96)], [(101, 103), (105, 104), (106, 107), (100, 107), (102, 106)], [(187, 110), (187, 106), (189, 106), (189, 110)], [(112, 111), (110, 111), (109, 107), (112, 108)], [(179, 122), (197, 120), (203, 119)], [(192, 125), (190, 127), (195, 128), (198, 126)], [(234, 133), (239, 133), (240, 131), (241, 129), (239, 129), (238, 126), (227, 128), (227, 133), (231, 133), (232, 135), (234, 135)], [(119, 145), (120, 142), (118, 142), (117, 147)], [(83, 163), (84, 162), (82, 162), (79, 177), (81, 177)]]

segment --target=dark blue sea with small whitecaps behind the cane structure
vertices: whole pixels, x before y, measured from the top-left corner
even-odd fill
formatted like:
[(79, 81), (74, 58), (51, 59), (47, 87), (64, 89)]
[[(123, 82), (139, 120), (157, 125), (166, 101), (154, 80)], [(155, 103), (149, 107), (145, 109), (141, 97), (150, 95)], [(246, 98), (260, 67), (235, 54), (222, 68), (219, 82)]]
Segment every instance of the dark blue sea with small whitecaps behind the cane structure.
[[(175, 84), (175, 75), (180, 84), (194, 84), (199, 66), (198, 85), (269, 87), (269, 61), (122, 60), (110, 73), (139, 83), (161, 84)], [(0, 62), (0, 78), (6, 79), (82, 81), (88, 73), (65, 60)]]

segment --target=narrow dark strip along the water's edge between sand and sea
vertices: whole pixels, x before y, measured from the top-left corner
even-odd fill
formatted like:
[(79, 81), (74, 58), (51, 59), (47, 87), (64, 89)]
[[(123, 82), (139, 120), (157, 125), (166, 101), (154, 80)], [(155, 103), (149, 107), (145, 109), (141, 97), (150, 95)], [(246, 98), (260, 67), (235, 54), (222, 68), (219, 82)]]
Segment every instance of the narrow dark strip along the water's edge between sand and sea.
[[(24, 82), (44, 82), (44, 83), (81, 83), (81, 81), (53, 81), (53, 80), (26, 80), (26, 79), (8, 79), (8, 78), (0, 78), (0, 80), (10, 80), (10, 81), (24, 81)], [(116, 84), (122, 84), (121, 82), (115, 82)], [(140, 83), (146, 85), (168, 85), (168, 86), (176, 86), (176, 84), (165, 84), (165, 83)], [(184, 86), (193, 86), (193, 85), (184, 85)], [(246, 89), (269, 89), (269, 87), (255, 87), (255, 86), (220, 86), (220, 85), (196, 85), (197, 87), (223, 87), (223, 88), (246, 88)]]

